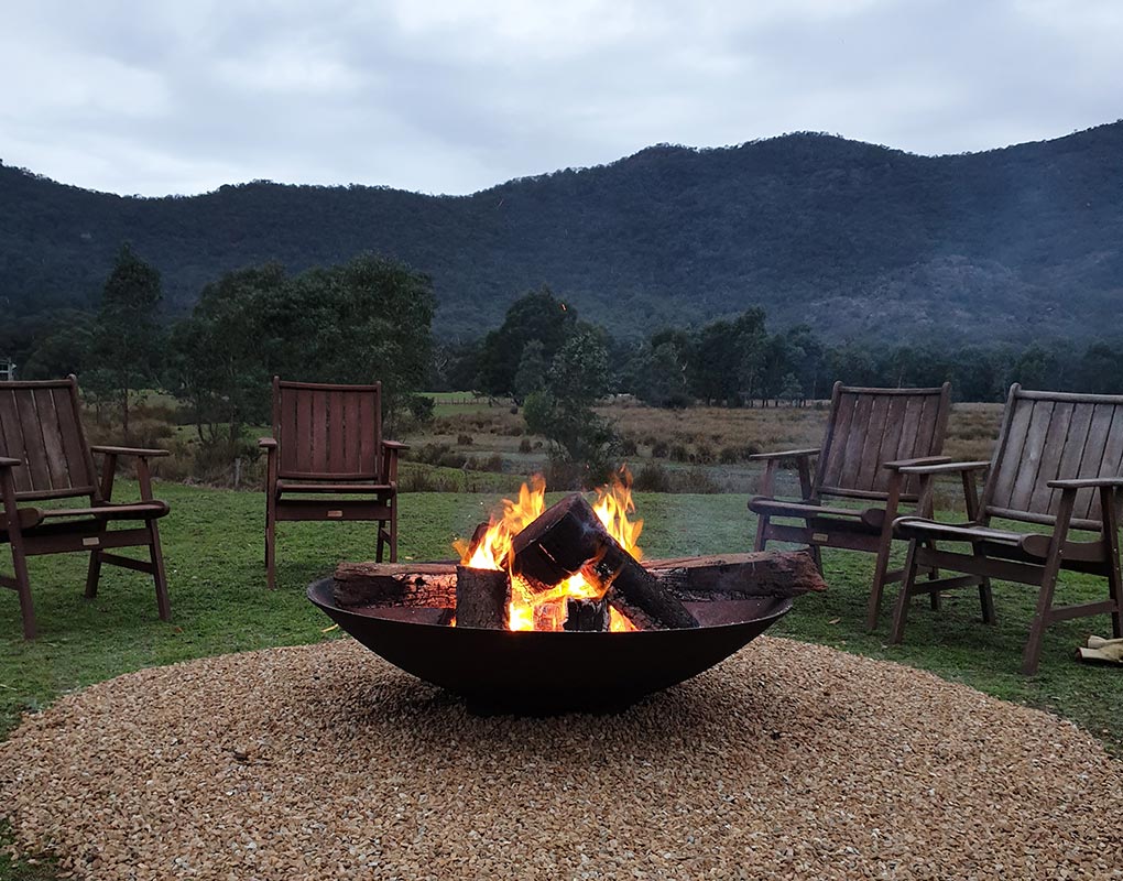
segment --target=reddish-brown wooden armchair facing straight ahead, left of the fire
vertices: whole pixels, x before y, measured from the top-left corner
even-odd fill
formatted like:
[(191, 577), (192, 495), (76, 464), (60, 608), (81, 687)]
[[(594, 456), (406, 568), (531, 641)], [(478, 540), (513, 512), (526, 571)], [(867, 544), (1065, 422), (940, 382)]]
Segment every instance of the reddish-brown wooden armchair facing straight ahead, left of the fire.
[(271, 590), (279, 520), (377, 521), (376, 558), (382, 561), (389, 545), (390, 562), (398, 561), (398, 453), (407, 445), (382, 439), (381, 382), (326, 385), (274, 376), (273, 437), (258, 444), (268, 453), (265, 571)]

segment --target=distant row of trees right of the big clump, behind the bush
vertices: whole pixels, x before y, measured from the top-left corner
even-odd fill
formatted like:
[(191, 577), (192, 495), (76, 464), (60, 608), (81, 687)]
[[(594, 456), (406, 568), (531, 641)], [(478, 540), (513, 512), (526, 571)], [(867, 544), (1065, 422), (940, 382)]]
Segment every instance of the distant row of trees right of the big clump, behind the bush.
[(1041, 340), (1028, 346), (828, 345), (810, 325), (769, 333), (751, 308), (696, 330), (669, 328), (638, 344), (582, 323), (548, 288), (517, 300), (503, 324), (480, 340), (438, 344), (430, 387), (474, 389), (522, 401), (542, 384), (565, 340), (584, 329), (611, 367), (605, 390), (654, 407), (802, 403), (849, 385), (932, 387), (951, 382), (959, 401), (1002, 401), (1013, 382), (1026, 388), (1123, 393), (1123, 340), (1090, 345)]

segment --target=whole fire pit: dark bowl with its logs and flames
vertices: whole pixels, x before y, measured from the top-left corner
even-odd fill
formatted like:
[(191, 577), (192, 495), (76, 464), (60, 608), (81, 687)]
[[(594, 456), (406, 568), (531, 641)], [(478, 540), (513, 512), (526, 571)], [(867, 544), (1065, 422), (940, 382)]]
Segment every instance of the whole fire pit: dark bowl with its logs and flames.
[(545, 487), (458, 543), (460, 564), (344, 563), (309, 599), (371, 651), (477, 709), (623, 707), (719, 663), (825, 585), (803, 552), (639, 562), (626, 481)]

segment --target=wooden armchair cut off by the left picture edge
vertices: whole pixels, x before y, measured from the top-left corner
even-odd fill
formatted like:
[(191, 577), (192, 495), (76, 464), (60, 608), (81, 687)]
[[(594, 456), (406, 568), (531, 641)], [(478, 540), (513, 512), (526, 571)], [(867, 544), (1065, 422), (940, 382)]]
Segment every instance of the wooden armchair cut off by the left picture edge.
[[(93, 453), (104, 456), (98, 482)], [(35, 611), (27, 557), (89, 551), (85, 596), (98, 593), (102, 563), (147, 572), (156, 585), (156, 609), (171, 617), (164, 557), (156, 520), (167, 505), (152, 496), (148, 460), (163, 449), (89, 446), (82, 430), (77, 380), (0, 382), (0, 544), (11, 547), (15, 578), (0, 575), (0, 585), (19, 593), (24, 636), (35, 637)], [(136, 456), (140, 501), (115, 505), (113, 476), (119, 456)], [(21, 502), (88, 497), (89, 503), (65, 508), (20, 507)], [(140, 524), (110, 529), (110, 523)], [(108, 553), (108, 548), (143, 546), (148, 560)]]

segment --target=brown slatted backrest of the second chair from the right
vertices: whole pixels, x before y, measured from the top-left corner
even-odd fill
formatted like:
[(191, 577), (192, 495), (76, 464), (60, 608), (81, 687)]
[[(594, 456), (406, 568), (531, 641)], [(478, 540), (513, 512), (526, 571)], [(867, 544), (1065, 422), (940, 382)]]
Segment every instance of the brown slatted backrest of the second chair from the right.
[[(815, 474), (815, 494), (885, 499), (889, 471), (883, 463), (938, 456), (951, 409), (951, 387), (862, 389), (834, 383), (827, 438)], [(902, 500), (915, 501), (920, 480), (910, 476)]]

